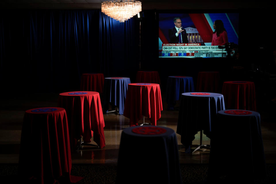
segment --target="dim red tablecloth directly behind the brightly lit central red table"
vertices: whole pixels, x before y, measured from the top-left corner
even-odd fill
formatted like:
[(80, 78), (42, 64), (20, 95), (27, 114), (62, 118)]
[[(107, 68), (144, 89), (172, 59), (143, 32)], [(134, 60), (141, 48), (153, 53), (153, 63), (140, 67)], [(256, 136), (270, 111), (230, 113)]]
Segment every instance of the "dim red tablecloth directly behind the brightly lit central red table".
[(160, 77), (156, 71), (138, 71), (136, 83), (156, 83), (160, 84)]

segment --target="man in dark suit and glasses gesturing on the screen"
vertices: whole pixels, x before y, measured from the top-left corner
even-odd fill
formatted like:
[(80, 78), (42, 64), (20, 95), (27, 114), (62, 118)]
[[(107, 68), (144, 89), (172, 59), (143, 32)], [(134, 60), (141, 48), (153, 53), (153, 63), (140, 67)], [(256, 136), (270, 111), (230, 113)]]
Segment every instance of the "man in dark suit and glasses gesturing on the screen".
[(189, 43), (185, 29), (182, 29), (182, 22), (179, 17), (173, 19), (175, 27), (169, 29), (170, 43)]

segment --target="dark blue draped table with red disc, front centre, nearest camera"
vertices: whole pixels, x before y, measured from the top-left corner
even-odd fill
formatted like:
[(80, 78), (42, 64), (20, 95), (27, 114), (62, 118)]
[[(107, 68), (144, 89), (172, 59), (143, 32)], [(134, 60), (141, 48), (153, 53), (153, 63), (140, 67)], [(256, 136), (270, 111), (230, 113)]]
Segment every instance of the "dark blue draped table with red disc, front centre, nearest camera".
[(175, 131), (160, 126), (124, 129), (116, 183), (182, 183)]

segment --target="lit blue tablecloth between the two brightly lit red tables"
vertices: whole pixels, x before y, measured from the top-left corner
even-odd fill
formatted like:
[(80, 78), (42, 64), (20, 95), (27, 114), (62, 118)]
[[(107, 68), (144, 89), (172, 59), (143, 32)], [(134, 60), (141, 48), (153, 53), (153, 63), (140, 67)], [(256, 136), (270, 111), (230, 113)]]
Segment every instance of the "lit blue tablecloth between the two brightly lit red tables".
[(124, 102), (127, 96), (127, 87), (130, 83), (128, 77), (106, 77), (104, 78), (104, 112), (108, 112), (108, 104), (116, 106), (119, 114), (124, 114)]

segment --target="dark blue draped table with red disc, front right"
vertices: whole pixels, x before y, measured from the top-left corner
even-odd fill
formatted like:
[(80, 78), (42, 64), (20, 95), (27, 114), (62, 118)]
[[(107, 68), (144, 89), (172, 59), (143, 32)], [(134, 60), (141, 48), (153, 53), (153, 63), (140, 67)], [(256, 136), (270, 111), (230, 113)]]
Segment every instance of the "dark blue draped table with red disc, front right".
[[(249, 183), (266, 176), (260, 114), (248, 110), (218, 111), (212, 124), (209, 178)], [(229, 143), (232, 150), (229, 151)], [(229, 146), (227, 146), (229, 145)], [(225, 159), (227, 158), (227, 159)]]

